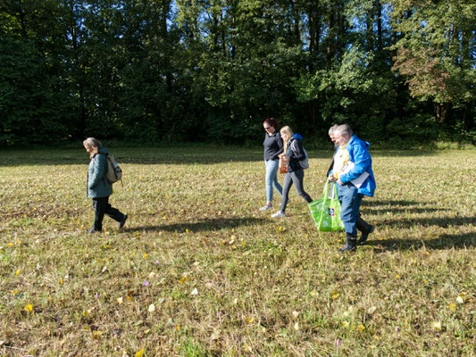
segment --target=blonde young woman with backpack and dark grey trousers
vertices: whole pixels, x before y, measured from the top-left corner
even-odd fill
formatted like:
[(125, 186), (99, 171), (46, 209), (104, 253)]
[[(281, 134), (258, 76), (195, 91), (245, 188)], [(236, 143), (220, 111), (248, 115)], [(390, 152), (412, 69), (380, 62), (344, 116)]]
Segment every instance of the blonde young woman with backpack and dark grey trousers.
[(280, 134), (284, 142), (284, 153), (280, 154), (284, 162), (288, 162), (288, 172), (284, 177), (280, 211), (271, 214), (272, 218), (286, 217), (286, 205), (288, 204), (288, 195), (291, 186), (296, 187), (297, 195), (304, 198), (305, 202), (312, 203), (313, 199), (308, 195), (303, 187), (305, 171), (301, 167), (300, 161), (305, 159), (303, 148), (303, 137), (294, 134), (288, 126), (280, 129)]

